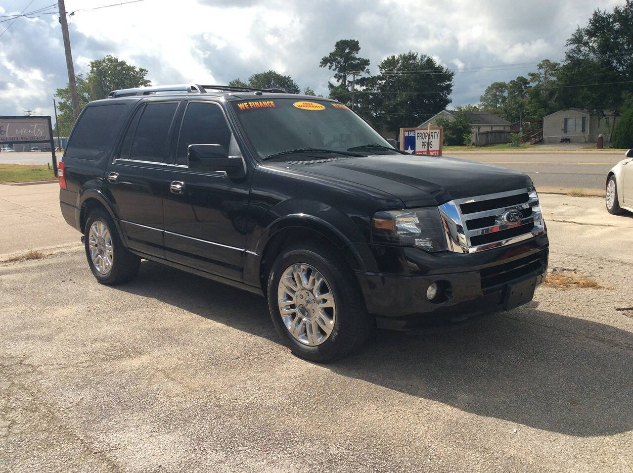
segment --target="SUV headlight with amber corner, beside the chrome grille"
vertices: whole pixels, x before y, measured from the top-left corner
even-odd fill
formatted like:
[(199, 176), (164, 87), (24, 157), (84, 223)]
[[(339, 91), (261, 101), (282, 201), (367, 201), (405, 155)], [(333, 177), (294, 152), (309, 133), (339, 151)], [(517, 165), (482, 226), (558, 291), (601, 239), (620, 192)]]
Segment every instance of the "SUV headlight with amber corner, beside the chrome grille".
[(372, 243), (446, 251), (446, 232), (437, 207), (382, 210), (372, 218)]

